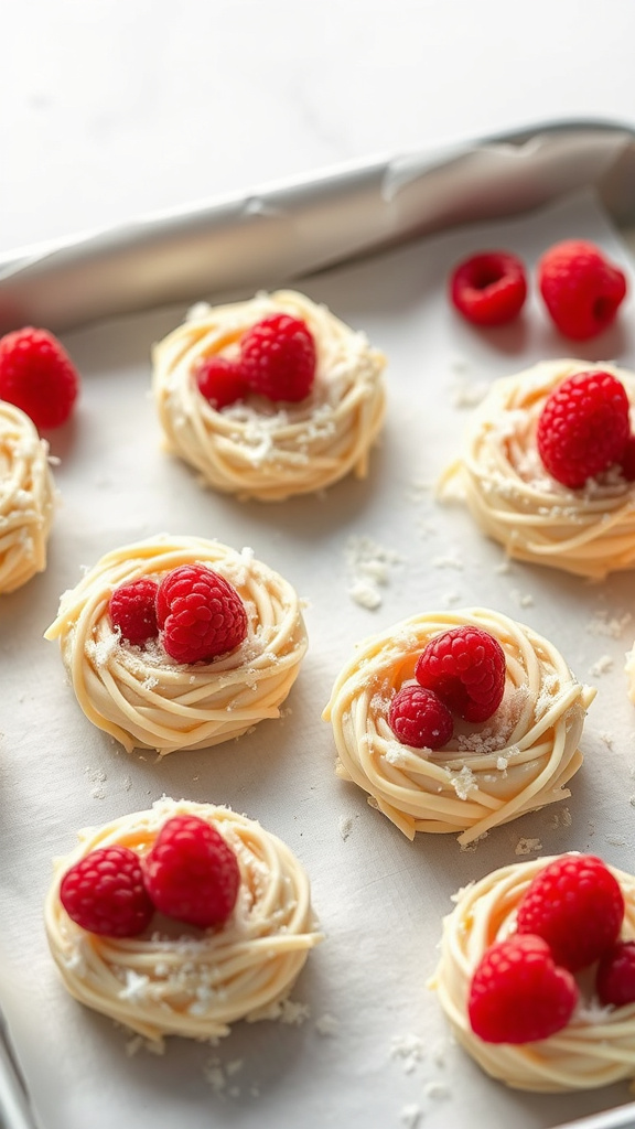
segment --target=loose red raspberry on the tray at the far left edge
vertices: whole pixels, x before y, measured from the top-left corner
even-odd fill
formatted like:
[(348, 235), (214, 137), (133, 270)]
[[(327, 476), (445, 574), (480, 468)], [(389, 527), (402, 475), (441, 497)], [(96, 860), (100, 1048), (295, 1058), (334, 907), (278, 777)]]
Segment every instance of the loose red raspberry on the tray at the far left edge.
[(0, 399), (36, 427), (66, 423), (78, 393), (77, 369), (52, 333), (28, 325), (0, 338)]

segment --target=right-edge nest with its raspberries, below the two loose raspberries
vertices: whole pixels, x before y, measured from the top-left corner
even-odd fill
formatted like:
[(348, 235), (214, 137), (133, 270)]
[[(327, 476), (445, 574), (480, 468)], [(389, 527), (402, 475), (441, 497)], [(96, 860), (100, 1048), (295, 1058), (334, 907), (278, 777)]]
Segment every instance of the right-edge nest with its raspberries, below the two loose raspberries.
[(496, 380), (438, 497), (517, 560), (602, 579), (635, 567), (635, 375), (542, 361)]

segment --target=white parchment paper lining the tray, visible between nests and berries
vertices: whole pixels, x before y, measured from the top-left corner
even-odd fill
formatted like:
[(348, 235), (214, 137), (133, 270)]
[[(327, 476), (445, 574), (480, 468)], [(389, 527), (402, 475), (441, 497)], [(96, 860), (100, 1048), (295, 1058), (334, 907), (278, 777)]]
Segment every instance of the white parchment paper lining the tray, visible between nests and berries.
[[(533, 294), (517, 325), (477, 332), (450, 309), (444, 280), (471, 250), (515, 250), (532, 266), (556, 239), (601, 243), (628, 272), (618, 324), (575, 352), (635, 368), (634, 272), (590, 192), (522, 219), (412, 242), (325, 272), (303, 289), (367, 332), (388, 358), (389, 412), (366, 481), (278, 505), (200, 489), (159, 450), (149, 351), (184, 307), (67, 334), (84, 376), (75, 422), (52, 436), (61, 507), (47, 571), (0, 603), (2, 675), (0, 889), (2, 998), (45, 1129), (294, 1124), (507, 1126), (541, 1129), (626, 1102), (626, 1086), (527, 1095), (486, 1078), (449, 1039), (426, 980), (451, 894), (489, 869), (542, 854), (591, 850), (633, 869), (635, 708), (624, 654), (635, 634), (633, 576), (591, 585), (504, 563), (467, 513), (441, 508), (432, 484), (458, 452), (470, 408), (496, 376), (572, 353)], [(246, 297), (247, 295), (245, 295)], [(110, 549), (167, 531), (218, 537), (281, 571), (306, 597), (310, 650), (280, 721), (208, 752), (127, 754), (81, 715), (58, 648), (42, 639), (60, 593)], [(383, 559), (374, 611), (349, 595), (364, 559)], [(321, 720), (356, 641), (417, 611), (495, 607), (548, 634), (599, 693), (585, 762), (565, 805), (499, 828), (473, 851), (454, 835), (406, 840), (333, 773)], [(612, 664), (612, 665), (611, 665)], [(604, 671), (604, 673), (599, 673)], [(597, 672), (597, 673), (593, 673)], [(227, 803), (285, 839), (305, 864), (327, 940), (293, 992), (299, 1023), (237, 1024), (218, 1047), (169, 1040), (140, 1049), (70, 999), (49, 957), (42, 902), (51, 857), (76, 830), (162, 795)], [(571, 825), (563, 817), (566, 807)], [(536, 846), (536, 844), (534, 844)]]

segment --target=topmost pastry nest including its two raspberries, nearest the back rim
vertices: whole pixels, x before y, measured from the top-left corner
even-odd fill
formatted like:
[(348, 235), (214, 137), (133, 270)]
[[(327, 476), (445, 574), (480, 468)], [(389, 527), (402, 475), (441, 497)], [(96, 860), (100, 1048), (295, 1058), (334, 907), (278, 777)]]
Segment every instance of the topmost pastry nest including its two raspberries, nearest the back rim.
[(154, 350), (166, 449), (201, 482), (279, 501), (367, 473), (384, 356), (302, 294), (195, 306)]

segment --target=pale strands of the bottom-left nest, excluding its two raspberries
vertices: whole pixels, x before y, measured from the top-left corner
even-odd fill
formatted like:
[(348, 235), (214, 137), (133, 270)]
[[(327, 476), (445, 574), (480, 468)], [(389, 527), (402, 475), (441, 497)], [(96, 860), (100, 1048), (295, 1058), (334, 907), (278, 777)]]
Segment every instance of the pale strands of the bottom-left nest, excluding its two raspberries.
[[(143, 857), (174, 815), (215, 826), (237, 856), (241, 889), (218, 929), (199, 930), (167, 918), (140, 937), (103, 937), (76, 925), (60, 901), (60, 882), (89, 851), (122, 846)], [(308, 878), (289, 848), (254, 820), (227, 807), (158, 800), (79, 834), (80, 846), (55, 860), (45, 905), (49, 945), (71, 994), (146, 1039), (216, 1039), (229, 1024), (277, 1018), (308, 952), (322, 935)]]

